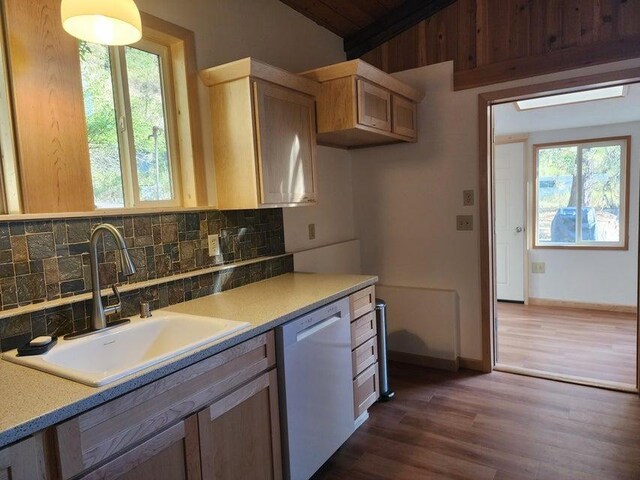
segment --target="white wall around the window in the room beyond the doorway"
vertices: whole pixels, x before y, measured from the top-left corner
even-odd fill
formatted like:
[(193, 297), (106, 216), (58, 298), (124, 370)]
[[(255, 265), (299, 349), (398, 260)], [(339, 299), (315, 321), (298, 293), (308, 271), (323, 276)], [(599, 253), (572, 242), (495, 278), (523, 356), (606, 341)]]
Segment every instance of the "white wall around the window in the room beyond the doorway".
[[(639, 107), (640, 108), (640, 107)], [(631, 135), (629, 250), (531, 249), (530, 262), (544, 262), (544, 274), (529, 274), (529, 296), (570, 302), (635, 305), (638, 266), (638, 179), (640, 122), (532, 133), (527, 145), (529, 184), (533, 188), (533, 145)]]

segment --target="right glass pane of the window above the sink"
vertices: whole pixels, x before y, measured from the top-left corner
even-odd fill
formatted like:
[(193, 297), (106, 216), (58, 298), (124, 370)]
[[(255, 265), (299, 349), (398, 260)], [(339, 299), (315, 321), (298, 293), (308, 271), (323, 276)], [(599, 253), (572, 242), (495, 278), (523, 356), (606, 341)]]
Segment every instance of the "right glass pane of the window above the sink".
[(125, 52), (140, 200), (171, 200), (174, 195), (160, 57), (132, 47)]

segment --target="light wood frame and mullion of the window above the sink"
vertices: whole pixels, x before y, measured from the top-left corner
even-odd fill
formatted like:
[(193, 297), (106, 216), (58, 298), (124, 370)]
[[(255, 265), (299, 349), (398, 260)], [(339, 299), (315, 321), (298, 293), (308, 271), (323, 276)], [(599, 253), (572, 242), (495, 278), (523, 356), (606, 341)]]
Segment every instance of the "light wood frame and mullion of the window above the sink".
[(131, 47), (160, 57), (162, 65), (163, 102), (167, 123), (167, 145), (171, 160), (171, 200), (140, 200), (135, 165), (133, 131), (130, 125), (130, 101), (124, 48), (110, 48), (116, 112), (124, 117), (127, 128), (118, 125), (118, 143), (122, 168), (125, 205), (122, 208), (96, 208), (98, 212), (153, 209), (166, 207), (197, 207), (206, 205), (207, 191), (200, 105), (198, 99), (198, 69), (195, 59), (195, 38), (192, 31), (140, 12), (143, 38)]

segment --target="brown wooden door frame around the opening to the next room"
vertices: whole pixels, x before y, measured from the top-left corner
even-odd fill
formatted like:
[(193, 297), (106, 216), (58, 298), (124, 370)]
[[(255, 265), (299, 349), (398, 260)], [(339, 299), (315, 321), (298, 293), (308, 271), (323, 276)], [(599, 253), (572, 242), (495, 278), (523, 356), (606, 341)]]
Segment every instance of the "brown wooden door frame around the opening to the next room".
[[(478, 159), (479, 159), (479, 228), (480, 228), (480, 293), (482, 318), (482, 370), (492, 372), (495, 365), (493, 345), (495, 315), (495, 252), (491, 225), (495, 212), (493, 193), (493, 119), (491, 106), (514, 100), (584, 90), (585, 87), (608, 87), (640, 82), (640, 68), (578, 76), (478, 94)], [(640, 250), (640, 247), (639, 247)], [(640, 251), (638, 252), (640, 262)], [(640, 287), (640, 263), (638, 265)], [(637, 298), (636, 304), (640, 301)], [(636, 324), (640, 326), (640, 312)], [(636, 327), (638, 328), (638, 327)], [(640, 329), (636, 330), (636, 387), (640, 385)]]

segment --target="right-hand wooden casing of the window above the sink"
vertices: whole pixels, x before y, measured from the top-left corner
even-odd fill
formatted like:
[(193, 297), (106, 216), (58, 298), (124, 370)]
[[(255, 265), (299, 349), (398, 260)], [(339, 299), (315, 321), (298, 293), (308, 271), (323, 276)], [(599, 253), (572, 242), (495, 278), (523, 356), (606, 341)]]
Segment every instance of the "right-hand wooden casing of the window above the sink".
[(145, 12), (142, 17), (143, 37), (169, 48), (171, 75), (175, 95), (175, 122), (180, 158), (180, 190), (182, 206), (207, 204), (204, 150), (198, 98), (198, 67), (195, 35), (191, 30)]

